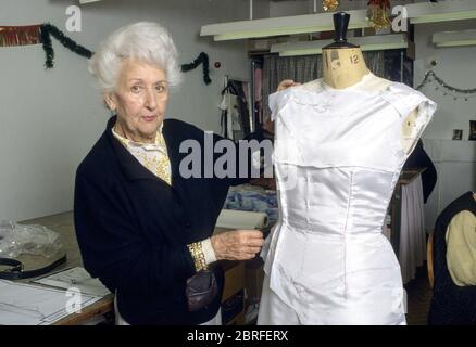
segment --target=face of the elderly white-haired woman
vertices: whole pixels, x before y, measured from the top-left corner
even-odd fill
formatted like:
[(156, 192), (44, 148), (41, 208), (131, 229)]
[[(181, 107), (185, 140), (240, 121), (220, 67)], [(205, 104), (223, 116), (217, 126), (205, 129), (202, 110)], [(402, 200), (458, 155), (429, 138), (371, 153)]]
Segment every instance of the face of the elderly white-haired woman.
[(121, 136), (136, 142), (153, 143), (167, 107), (165, 73), (154, 65), (126, 60), (115, 90), (104, 100), (117, 114), (116, 131)]

